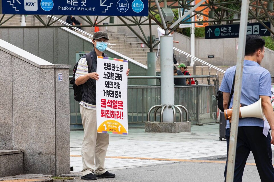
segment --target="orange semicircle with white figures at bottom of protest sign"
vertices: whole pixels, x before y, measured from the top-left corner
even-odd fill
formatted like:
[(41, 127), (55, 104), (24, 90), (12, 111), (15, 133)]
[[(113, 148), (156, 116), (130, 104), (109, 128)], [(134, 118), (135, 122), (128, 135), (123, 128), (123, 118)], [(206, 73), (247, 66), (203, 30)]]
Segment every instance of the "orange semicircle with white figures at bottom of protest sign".
[(112, 133), (120, 135), (128, 135), (124, 126), (115, 120), (104, 121), (97, 129), (99, 133)]

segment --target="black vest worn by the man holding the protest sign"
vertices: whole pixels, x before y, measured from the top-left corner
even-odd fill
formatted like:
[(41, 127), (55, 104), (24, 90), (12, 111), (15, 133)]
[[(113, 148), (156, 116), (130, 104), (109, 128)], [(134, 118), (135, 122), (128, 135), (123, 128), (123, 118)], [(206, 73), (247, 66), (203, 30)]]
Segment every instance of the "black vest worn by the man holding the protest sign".
[[(97, 70), (97, 55), (94, 49), (90, 52), (90, 55), (92, 65), (88, 65), (88, 73), (93, 73)], [(108, 57), (108, 55), (104, 53), (102, 56)], [(90, 78), (83, 84), (82, 101), (88, 104), (96, 105), (96, 80)]]

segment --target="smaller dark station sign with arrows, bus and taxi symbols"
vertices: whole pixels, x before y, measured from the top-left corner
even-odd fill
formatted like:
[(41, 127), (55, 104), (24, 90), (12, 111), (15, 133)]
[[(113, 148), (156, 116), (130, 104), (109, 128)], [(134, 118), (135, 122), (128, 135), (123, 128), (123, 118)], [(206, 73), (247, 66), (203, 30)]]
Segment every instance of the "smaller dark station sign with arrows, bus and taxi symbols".
[[(264, 22), (270, 28), (270, 22)], [(206, 39), (239, 37), (240, 24), (206, 26)], [(270, 36), (270, 32), (260, 23), (248, 23), (247, 35)]]

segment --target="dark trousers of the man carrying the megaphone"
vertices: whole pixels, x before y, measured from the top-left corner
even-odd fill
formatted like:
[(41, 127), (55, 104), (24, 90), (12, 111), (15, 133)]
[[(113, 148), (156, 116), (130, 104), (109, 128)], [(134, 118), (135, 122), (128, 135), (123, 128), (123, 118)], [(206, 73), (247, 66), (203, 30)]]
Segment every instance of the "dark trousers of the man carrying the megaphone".
[[(229, 148), (229, 129), (226, 129), (227, 156)], [(272, 166), (270, 133), (265, 137), (262, 127), (245, 126), (238, 128), (237, 148), (235, 156), (234, 182), (241, 182), (243, 170), (250, 151), (253, 153), (257, 170), (262, 182), (274, 181), (274, 169)], [(227, 157), (228, 160), (228, 157)], [(227, 160), (225, 164), (225, 181)]]

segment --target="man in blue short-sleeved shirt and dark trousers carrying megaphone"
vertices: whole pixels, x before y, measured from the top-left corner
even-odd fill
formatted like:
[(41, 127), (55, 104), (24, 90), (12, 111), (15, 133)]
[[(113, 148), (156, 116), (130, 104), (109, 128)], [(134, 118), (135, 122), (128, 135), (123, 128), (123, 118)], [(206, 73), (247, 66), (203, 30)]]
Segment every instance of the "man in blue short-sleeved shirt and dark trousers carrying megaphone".
[[(269, 71), (260, 67), (265, 52), (264, 45), (265, 41), (257, 35), (246, 38), (240, 103), (242, 106), (250, 105), (262, 98), (263, 112), (272, 129), (271, 136), (269, 132), (267, 137), (263, 134), (265, 123), (262, 119), (253, 117), (239, 119), (234, 169), (234, 181), (237, 182), (242, 181), (243, 170), (250, 151), (253, 153), (261, 181), (274, 181), (271, 151), (271, 144), (274, 144), (274, 113), (269, 99), (271, 97), (271, 75)], [(224, 109), (231, 108), (233, 105), (232, 97), (231, 104), (227, 107), (235, 71), (236, 66), (227, 69), (221, 83)], [(226, 128), (228, 155), (229, 121), (227, 121)], [(227, 162), (224, 172), (225, 181), (226, 171)]]

